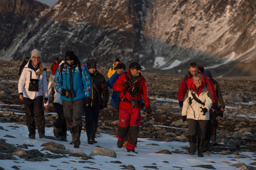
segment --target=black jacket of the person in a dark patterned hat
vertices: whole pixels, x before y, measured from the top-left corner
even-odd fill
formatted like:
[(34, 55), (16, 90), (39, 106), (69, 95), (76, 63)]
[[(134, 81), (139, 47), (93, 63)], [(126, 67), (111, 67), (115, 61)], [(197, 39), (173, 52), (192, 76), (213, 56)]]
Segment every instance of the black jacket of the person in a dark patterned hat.
[[(109, 94), (108, 94), (108, 85), (106, 83), (105, 77), (96, 70), (96, 72), (91, 75), (91, 81), (96, 85), (99, 93), (102, 94), (103, 100), (106, 100), (108, 102)], [(99, 95), (92, 86), (92, 104), (91, 106), (99, 107), (100, 106), (100, 98)]]

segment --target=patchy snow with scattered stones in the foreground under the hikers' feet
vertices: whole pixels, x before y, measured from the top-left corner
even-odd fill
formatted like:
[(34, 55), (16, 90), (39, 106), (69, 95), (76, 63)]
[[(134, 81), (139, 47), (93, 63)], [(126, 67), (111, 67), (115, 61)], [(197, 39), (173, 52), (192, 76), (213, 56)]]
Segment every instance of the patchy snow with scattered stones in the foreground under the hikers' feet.
[[(66, 149), (69, 150), (77, 150), (84, 152), (85, 154), (89, 155), (93, 150), (95, 150), (98, 146), (101, 146), (103, 148), (113, 150), (117, 154), (117, 158), (112, 158), (108, 156), (93, 156), (94, 159), (88, 159), (86, 161), (92, 161), (93, 163), (79, 163), (78, 161), (85, 161), (81, 160), (78, 157), (71, 157), (69, 158), (58, 158), (58, 159), (50, 159), (49, 161), (37, 161), (37, 162), (31, 162), (26, 161), (25, 159), (21, 159), (18, 156), (14, 156), (17, 158), (17, 160), (0, 160), (0, 167), (3, 167), (4, 169), (13, 169), (12, 166), (16, 165), (20, 170), (56, 170), (56, 169), (86, 169), (83, 167), (91, 167), (91, 168), (97, 168), (101, 170), (119, 170), (123, 167), (120, 167), (119, 165), (133, 165), (136, 170), (144, 170), (149, 169), (145, 168), (143, 166), (152, 166), (152, 163), (155, 163), (158, 169), (161, 170), (167, 170), (167, 169), (202, 169), (202, 168), (195, 168), (191, 167), (193, 165), (212, 165), (216, 169), (238, 169), (235, 167), (231, 167), (229, 165), (243, 162), (246, 165), (249, 165), (249, 163), (253, 162), (251, 159), (253, 158), (252, 152), (241, 152), (240, 154), (244, 154), (247, 156), (250, 156), (251, 158), (234, 158), (236, 155), (220, 155), (220, 154), (210, 154), (209, 156), (205, 155), (203, 158), (197, 157), (197, 155), (188, 155), (188, 154), (156, 154), (156, 152), (160, 150), (167, 149), (169, 151), (174, 151), (176, 149), (180, 151), (184, 151), (186, 153), (187, 151), (181, 147), (188, 147), (188, 142), (158, 142), (153, 140), (147, 140), (147, 138), (138, 138), (137, 148), (136, 151), (138, 154), (129, 153), (126, 152), (125, 148), (117, 148), (116, 142), (117, 138), (114, 135), (109, 134), (100, 134), (100, 137), (96, 138), (98, 141), (97, 144), (89, 145), (87, 144), (87, 137), (86, 134), (81, 134), (81, 145), (79, 148), (73, 148), (73, 145), (70, 145), (69, 142), (71, 140), (71, 134), (68, 132), (67, 140), (68, 142), (61, 142), (56, 140), (50, 140), (50, 139), (40, 139), (38, 138), (38, 134), (36, 134), (36, 139), (29, 139), (28, 138), (28, 129), (25, 125), (20, 125), (16, 123), (1, 123), (0, 124), (4, 130), (0, 130), (0, 138), (3, 138), (6, 140), (7, 143), (11, 143), (14, 145), (21, 145), (21, 144), (30, 144), (34, 145), (33, 147), (28, 147), (28, 149), (23, 150), (32, 150), (32, 149), (38, 149), (41, 150), (44, 148), (41, 146), (43, 143), (46, 142), (56, 142), (65, 145)], [(8, 127), (8, 126), (18, 126), (19, 128), (14, 127)], [(9, 138), (4, 137), (5, 135), (11, 135), (16, 138)], [(46, 136), (53, 136), (53, 128), (46, 127)], [(158, 144), (157, 145), (148, 145), (148, 144)], [(54, 154), (51, 153), (48, 150), (42, 151), (42, 153), (47, 154)], [(128, 156), (128, 154), (134, 155), (134, 156)], [(62, 154), (61, 154), (62, 155)], [(231, 159), (235, 159), (236, 161), (233, 161)], [(68, 163), (64, 163), (68, 162)], [(75, 162), (74, 162), (75, 161)], [(121, 163), (111, 163), (111, 161), (121, 161)], [(163, 161), (168, 161), (169, 163), (164, 163)], [(214, 161), (215, 163), (212, 163), (210, 161)], [(230, 164), (222, 163), (222, 161), (228, 161)], [(54, 167), (53, 167), (54, 166)], [(253, 166), (255, 167), (255, 166)]]

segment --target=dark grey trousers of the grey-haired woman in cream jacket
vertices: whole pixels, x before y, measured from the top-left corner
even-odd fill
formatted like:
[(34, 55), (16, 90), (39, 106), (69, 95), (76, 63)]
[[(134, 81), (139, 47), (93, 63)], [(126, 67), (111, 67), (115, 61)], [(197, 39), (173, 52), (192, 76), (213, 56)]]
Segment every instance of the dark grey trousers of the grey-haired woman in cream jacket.
[(197, 133), (198, 138), (205, 138), (207, 122), (208, 120), (187, 119), (187, 125), (189, 127), (188, 135), (193, 136)]

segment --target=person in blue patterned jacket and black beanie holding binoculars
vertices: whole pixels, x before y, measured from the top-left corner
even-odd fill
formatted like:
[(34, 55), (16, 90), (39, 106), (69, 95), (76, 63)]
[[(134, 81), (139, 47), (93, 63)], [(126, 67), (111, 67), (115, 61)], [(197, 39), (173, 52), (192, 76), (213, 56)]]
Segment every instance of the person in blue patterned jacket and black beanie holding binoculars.
[(67, 51), (65, 63), (58, 67), (53, 82), (57, 93), (61, 94), (63, 112), (72, 135), (70, 144), (79, 148), (83, 105), (92, 102), (90, 73), (73, 51)]

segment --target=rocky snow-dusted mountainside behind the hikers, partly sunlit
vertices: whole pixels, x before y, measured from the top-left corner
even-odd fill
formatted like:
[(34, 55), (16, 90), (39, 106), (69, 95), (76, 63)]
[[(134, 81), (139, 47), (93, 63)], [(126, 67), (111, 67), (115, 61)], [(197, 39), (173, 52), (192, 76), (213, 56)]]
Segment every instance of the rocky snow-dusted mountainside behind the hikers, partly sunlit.
[(1, 0), (0, 58), (42, 60), (73, 50), (111, 67), (137, 60), (147, 71), (185, 74), (189, 62), (215, 76), (255, 75), (256, 0)]

